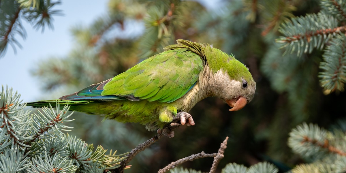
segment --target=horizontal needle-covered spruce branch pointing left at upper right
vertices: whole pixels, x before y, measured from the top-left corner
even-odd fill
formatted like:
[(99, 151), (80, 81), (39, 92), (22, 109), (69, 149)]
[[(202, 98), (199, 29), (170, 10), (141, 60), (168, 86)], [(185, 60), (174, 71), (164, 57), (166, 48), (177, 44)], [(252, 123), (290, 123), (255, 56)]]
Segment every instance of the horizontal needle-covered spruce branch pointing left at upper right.
[(338, 21), (325, 11), (316, 14), (307, 14), (304, 17), (292, 18), (279, 29), (284, 36), (275, 39), (286, 52), (311, 53), (313, 48), (322, 49), (331, 37), (346, 32), (346, 26), (338, 26)]

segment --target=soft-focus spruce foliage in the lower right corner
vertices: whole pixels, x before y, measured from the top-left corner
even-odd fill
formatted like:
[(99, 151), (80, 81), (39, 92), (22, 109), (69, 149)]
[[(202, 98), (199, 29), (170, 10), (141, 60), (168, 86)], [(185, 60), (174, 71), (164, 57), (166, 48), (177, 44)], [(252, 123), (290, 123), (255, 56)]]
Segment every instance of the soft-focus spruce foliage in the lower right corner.
[(317, 172), (332, 173), (346, 171), (345, 132), (333, 132), (313, 124), (302, 124), (294, 128), (288, 145), (309, 164), (301, 164), (292, 173)]

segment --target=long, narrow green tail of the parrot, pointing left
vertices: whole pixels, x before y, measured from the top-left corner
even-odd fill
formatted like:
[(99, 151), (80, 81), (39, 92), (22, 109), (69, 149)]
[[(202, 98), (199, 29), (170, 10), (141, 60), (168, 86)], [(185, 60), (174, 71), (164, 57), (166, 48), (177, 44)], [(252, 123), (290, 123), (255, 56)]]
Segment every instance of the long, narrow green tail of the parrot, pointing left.
[(49, 107), (49, 104), (54, 108), (56, 103), (59, 103), (60, 106), (64, 106), (66, 104), (70, 106), (80, 106), (87, 103), (95, 102), (93, 100), (43, 100), (43, 101), (35, 101), (26, 103), (27, 106), (32, 106), (34, 108), (42, 108)]

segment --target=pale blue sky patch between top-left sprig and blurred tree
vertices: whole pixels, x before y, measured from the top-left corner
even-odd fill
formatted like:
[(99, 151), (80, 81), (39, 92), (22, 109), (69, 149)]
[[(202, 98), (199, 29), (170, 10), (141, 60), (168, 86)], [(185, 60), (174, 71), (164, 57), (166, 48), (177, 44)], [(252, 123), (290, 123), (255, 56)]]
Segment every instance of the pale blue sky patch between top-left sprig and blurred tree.
[(97, 16), (107, 12), (107, 3), (108, 0), (63, 0), (54, 9), (63, 10), (64, 16), (54, 16), (54, 30), (45, 28), (43, 33), (22, 21), (27, 37), (23, 40), (16, 35), (23, 48), (17, 47), (15, 54), (8, 46), (5, 56), (0, 58), (0, 84), (18, 91), (24, 101), (42, 99), (39, 80), (30, 74), (30, 70), (44, 58), (67, 55), (73, 46), (71, 27), (76, 24), (88, 26)]

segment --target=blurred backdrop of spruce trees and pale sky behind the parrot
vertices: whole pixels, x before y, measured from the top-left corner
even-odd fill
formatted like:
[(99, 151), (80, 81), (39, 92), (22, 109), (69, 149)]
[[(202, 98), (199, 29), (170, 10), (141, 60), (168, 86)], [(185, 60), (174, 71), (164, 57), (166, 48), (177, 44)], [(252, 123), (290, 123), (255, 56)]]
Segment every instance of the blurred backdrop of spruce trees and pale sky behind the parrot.
[[(248, 166), (268, 161), (285, 171), (302, 162), (287, 146), (293, 127), (305, 121), (328, 129), (345, 115), (345, 93), (325, 95), (320, 86), (323, 52), (283, 56), (284, 50), (275, 43), (282, 22), (321, 10), (317, 0), (42, 2), (52, 3), (45, 4), (49, 20), (45, 13), (37, 14), (43, 20), (30, 20), (30, 9), (13, 9), (17, 1), (1, 1), (0, 12), (11, 6), (13, 14), (20, 14), (14, 20), (16, 30), (8, 35), (17, 54), (11, 47), (0, 50), (1, 84), (17, 90), (24, 101), (56, 99), (107, 80), (162, 52), (176, 39), (208, 43), (233, 54), (249, 67), (257, 83), (253, 101), (237, 112), (228, 111), (217, 98), (199, 102), (189, 112), (195, 126), (180, 127), (174, 138), (161, 139), (137, 155), (126, 172), (156, 172), (191, 154), (217, 152), (226, 136), (219, 170), (230, 162)], [(4, 36), (11, 23), (0, 24)], [(26, 40), (18, 33), (26, 33)], [(118, 153), (129, 152), (156, 133), (79, 112), (73, 118), (70, 134)], [(202, 158), (183, 166), (209, 171), (211, 164), (212, 158)]]

